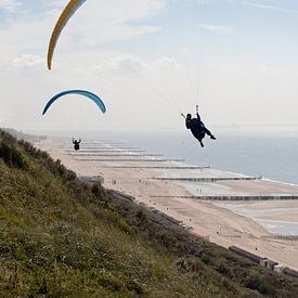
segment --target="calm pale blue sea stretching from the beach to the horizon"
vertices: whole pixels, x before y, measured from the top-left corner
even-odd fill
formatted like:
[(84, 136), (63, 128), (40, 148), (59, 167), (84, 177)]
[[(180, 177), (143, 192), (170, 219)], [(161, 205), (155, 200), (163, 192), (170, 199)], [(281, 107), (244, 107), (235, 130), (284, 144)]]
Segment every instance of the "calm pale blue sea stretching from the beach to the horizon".
[(86, 135), (119, 141), (163, 153), (168, 158), (184, 158), (186, 164), (298, 184), (298, 131), (249, 132), (218, 130), (217, 140), (205, 138), (205, 147), (185, 131), (98, 131)]

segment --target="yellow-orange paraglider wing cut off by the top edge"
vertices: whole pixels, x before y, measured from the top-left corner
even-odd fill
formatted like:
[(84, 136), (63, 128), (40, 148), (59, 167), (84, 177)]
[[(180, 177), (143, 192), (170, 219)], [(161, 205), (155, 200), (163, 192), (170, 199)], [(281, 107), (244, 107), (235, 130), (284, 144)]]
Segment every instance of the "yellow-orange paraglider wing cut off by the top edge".
[(54, 50), (63, 28), (66, 26), (69, 18), (75, 14), (75, 12), (79, 9), (79, 7), (82, 5), (87, 0), (70, 0), (70, 2), (62, 12), (54, 27), (54, 30), (52, 33), (49, 49), (48, 49), (48, 68), (49, 69), (51, 69), (52, 67), (52, 59), (53, 59)]

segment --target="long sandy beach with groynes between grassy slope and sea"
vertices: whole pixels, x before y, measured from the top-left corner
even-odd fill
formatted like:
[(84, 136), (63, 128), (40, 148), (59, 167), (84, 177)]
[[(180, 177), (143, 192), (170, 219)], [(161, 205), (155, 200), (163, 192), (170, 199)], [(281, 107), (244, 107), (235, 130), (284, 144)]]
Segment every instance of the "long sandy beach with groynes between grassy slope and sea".
[[(114, 148), (117, 152), (117, 144), (99, 148), (95, 143), (90, 143), (88, 148), (85, 151), (82, 148), (76, 154), (63, 139), (51, 138), (36, 145), (47, 151), (53, 158), (61, 159), (78, 176), (102, 176), (103, 185), (106, 189), (132, 195), (137, 202), (183, 221), (197, 235), (208, 237), (209, 241), (224, 247), (237, 245), (298, 270), (298, 241), (273, 237), (258, 221), (223, 208), (220, 204), (194, 197), (194, 194), (197, 196), (297, 195), (298, 186), (262, 179), (233, 181), (229, 179), (242, 176), (210, 168), (183, 168), (179, 163), (154, 161), (154, 157), (145, 157), (141, 154), (111, 156)], [(99, 154), (105, 150), (109, 152), (106, 156)], [(229, 179), (192, 184), (167, 179), (159, 180), (159, 178), (177, 177)], [(251, 212), (261, 209), (273, 210), (270, 215), (259, 216), (259, 220), (297, 222), (298, 218), (297, 199), (241, 202), (237, 205), (237, 208), (239, 207)], [(281, 209), (286, 211), (281, 212)]]

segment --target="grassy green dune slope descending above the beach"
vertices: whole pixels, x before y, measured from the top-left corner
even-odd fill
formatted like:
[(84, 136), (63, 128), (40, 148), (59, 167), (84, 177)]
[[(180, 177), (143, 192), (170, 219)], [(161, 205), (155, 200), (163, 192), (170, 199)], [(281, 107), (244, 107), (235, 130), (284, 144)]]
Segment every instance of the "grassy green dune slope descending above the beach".
[(0, 132), (0, 296), (298, 297), (298, 281), (186, 233)]

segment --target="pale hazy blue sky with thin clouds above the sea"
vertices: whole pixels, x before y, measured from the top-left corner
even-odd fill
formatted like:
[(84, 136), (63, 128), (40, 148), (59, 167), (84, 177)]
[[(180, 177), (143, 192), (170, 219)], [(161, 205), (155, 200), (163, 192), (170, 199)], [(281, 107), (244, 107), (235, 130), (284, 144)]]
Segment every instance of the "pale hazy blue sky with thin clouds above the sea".
[[(21, 130), (298, 126), (298, 1), (0, 0), (0, 126)], [(106, 113), (63, 90), (96, 93)]]

